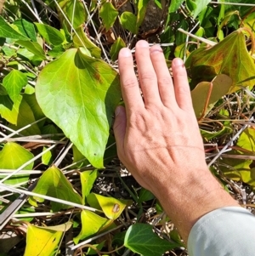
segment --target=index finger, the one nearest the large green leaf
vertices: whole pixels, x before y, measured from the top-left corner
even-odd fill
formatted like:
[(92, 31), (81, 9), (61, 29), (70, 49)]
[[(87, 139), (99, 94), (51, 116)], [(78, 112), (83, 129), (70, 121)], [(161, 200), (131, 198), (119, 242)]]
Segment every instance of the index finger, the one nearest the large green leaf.
[(125, 101), (127, 111), (144, 107), (139, 83), (133, 71), (133, 57), (128, 48), (122, 48), (119, 53), (119, 71), (122, 85), (122, 97)]

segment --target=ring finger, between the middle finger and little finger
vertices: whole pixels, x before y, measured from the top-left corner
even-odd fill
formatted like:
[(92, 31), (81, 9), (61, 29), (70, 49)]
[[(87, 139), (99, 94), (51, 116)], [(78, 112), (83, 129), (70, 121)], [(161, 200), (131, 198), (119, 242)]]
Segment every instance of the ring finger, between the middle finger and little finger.
[(159, 45), (154, 45), (150, 48), (150, 59), (156, 71), (157, 84), (163, 105), (167, 107), (173, 106), (176, 103), (173, 80), (167, 68), (165, 56)]

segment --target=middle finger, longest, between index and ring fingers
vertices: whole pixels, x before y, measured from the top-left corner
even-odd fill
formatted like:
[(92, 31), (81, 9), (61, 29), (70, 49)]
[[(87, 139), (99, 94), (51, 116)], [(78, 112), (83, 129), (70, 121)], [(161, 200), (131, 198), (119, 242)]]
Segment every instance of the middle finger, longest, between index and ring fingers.
[(161, 102), (156, 72), (150, 60), (149, 43), (140, 40), (135, 46), (135, 59), (139, 71), (139, 82), (144, 95), (145, 105), (156, 105)]

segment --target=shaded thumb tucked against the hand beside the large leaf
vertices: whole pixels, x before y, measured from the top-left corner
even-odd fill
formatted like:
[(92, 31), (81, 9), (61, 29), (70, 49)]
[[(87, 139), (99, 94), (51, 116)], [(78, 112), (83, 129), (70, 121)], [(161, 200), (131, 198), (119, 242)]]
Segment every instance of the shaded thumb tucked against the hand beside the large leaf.
[(118, 105), (115, 110), (115, 122), (113, 125), (113, 131), (116, 139), (116, 146), (118, 154), (124, 150), (124, 138), (126, 134), (127, 117), (125, 108), (122, 105)]

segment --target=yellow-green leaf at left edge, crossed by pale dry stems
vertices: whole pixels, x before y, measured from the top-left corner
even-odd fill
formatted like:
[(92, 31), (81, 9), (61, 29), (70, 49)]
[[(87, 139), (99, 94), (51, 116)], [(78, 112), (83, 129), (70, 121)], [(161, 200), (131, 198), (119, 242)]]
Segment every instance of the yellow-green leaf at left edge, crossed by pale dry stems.
[[(3, 150), (0, 151), (0, 169), (15, 170), (20, 168), (24, 163), (30, 161), (33, 157), (33, 154), (21, 145), (14, 142), (8, 142), (3, 146)], [(33, 165), (34, 163), (31, 162), (24, 168), (24, 170), (31, 170)], [(13, 175), (10, 179), (4, 181), (4, 183), (9, 185), (19, 184), (27, 181), (29, 176), (29, 174)], [(3, 179), (4, 177), (5, 176), (0, 176), (0, 179)]]

